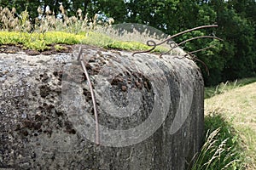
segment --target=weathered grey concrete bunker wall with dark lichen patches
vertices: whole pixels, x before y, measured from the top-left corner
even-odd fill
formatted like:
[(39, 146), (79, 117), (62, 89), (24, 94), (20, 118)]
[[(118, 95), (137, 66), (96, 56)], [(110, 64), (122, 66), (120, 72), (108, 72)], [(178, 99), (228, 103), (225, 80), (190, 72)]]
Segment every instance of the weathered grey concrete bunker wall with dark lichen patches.
[[(76, 82), (71, 68), (79, 68), (72, 54), (0, 54), (0, 168), (188, 168), (201, 148), (204, 132), (203, 81), (195, 63), (169, 55), (131, 56), (130, 52), (84, 48), (101, 124), (100, 145), (88, 133), (90, 125), (84, 116), (94, 119), (86, 78), (80, 77), (83, 83), (77, 83), (78, 88), (67, 86)], [(104, 90), (110, 99), (102, 94)], [(189, 90), (192, 94), (186, 94)], [(191, 104), (183, 105), (189, 98)], [(75, 103), (72, 110), (70, 101)], [(84, 112), (79, 112), (81, 108)], [(152, 127), (142, 126), (137, 139), (117, 138), (103, 129), (126, 129), (127, 136), (137, 137), (140, 132), (128, 130), (147, 122), (153, 111)], [(157, 117), (162, 117), (160, 125), (154, 126)], [(151, 135), (147, 129), (155, 132)]]

